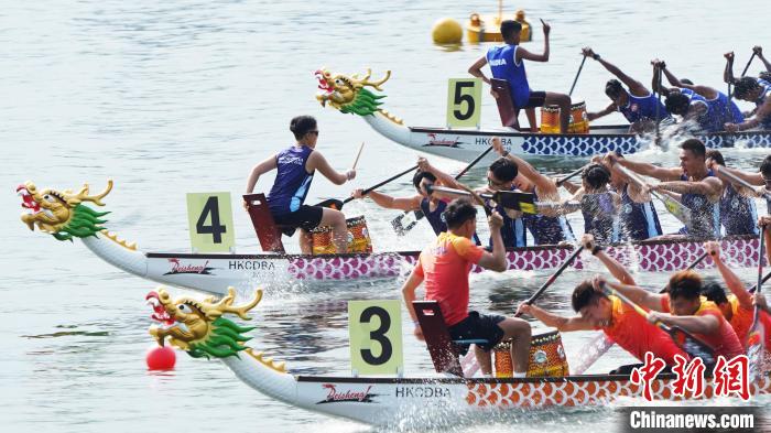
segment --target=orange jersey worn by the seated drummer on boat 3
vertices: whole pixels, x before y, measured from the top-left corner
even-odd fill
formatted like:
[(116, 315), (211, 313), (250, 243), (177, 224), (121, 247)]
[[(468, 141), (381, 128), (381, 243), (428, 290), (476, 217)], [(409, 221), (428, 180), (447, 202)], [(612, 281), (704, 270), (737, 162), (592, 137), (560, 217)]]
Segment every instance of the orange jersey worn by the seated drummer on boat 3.
[(484, 252), (470, 239), (444, 231), (417, 259), (414, 272), (423, 277), (425, 299), (439, 303), (447, 326), (468, 316), (468, 272)]

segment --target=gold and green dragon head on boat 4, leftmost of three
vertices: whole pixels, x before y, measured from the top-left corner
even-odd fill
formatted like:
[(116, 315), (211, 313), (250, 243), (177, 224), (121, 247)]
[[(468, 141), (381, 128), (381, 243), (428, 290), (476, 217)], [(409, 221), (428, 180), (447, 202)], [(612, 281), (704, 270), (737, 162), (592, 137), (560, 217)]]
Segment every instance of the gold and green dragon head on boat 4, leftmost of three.
[(25, 209), (21, 220), (30, 227), (30, 230), (34, 230), (36, 225), (41, 231), (48, 232), (58, 240), (96, 236), (104, 229), (99, 225), (107, 223), (100, 218), (109, 212), (96, 212), (84, 203), (91, 202), (104, 206), (101, 199), (111, 190), (111, 180), (107, 181), (107, 188), (98, 195), (88, 195), (88, 184), (83, 185), (77, 193), (73, 193), (70, 190), (37, 191), (34, 183), (26, 182), (17, 187), (17, 193), (22, 198), (21, 207)]

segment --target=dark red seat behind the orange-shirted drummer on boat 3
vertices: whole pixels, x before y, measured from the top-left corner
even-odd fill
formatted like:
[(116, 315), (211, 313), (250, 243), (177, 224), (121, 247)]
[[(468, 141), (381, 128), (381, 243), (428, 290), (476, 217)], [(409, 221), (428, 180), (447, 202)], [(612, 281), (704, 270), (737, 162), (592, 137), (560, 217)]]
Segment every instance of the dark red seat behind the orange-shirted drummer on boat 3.
[(448, 372), (464, 377), (458, 357), (460, 347), (473, 344), (486, 344), (486, 339), (452, 339), (444, 322), (442, 310), (436, 301), (413, 301), (417, 323), (423, 331), (423, 337), (434, 362), (436, 372)]

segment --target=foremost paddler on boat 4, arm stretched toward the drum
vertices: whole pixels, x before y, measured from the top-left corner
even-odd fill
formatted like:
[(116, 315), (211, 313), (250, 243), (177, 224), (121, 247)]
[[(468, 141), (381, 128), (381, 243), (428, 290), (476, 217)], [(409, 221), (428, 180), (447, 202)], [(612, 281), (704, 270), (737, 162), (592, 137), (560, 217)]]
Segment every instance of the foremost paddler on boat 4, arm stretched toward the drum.
[[(412, 177), (412, 185), (417, 194), (411, 197), (393, 197), (377, 191), (370, 191), (367, 197), (371, 198), (378, 206), (387, 209), (422, 210), (436, 235), (447, 231), (447, 225), (442, 214), (447, 208), (449, 199), (439, 197), (439, 194), (428, 192), (428, 188), (436, 185), (457, 190), (460, 186), (458, 186), (455, 178), (431, 165), (425, 158), (419, 158), (417, 171)], [(355, 190), (350, 195), (355, 198), (363, 198), (362, 190)]]

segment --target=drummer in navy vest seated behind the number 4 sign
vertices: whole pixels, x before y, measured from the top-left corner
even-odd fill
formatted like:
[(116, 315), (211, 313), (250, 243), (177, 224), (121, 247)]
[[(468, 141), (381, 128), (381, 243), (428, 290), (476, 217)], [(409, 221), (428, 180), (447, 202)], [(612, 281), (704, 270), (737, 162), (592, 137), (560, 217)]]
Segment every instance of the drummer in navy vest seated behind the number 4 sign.
[(313, 238), (310, 231), (319, 226), (330, 226), (333, 243), (337, 252), (348, 249), (348, 229), (345, 215), (335, 209), (305, 205), (313, 176), (318, 170), (324, 177), (336, 185), (356, 177), (356, 171), (335, 171), (321, 152), (316, 151), (318, 126), (311, 116), (297, 116), (290, 122), (290, 130), (296, 143), (254, 165), (247, 181), (247, 194), (254, 191), (261, 175), (278, 170), (275, 181), (268, 194), (268, 206), (275, 224), (286, 236), (300, 229), (300, 249), (310, 255)]

